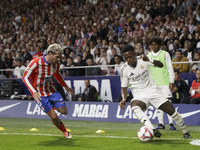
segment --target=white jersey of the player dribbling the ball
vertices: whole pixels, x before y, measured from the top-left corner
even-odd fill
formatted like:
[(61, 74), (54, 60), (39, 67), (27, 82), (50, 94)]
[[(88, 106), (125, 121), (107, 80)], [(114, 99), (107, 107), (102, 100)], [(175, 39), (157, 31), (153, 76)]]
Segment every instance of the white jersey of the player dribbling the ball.
[(121, 87), (127, 87), (129, 84), (133, 95), (157, 88), (151, 76), (149, 66), (153, 66), (153, 64), (141, 59), (137, 60), (136, 67), (128, 65), (127, 62), (123, 64), (120, 68)]

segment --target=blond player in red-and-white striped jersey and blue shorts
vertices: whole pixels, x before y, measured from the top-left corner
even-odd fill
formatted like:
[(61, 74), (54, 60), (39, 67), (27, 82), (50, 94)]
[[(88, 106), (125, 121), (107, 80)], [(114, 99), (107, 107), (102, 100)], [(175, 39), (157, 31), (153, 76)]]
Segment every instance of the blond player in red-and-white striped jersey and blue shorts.
[(47, 48), (47, 55), (33, 59), (27, 66), (22, 77), (23, 82), (31, 92), (39, 107), (51, 118), (52, 123), (60, 129), (65, 138), (72, 138), (58, 118), (52, 107), (63, 115), (67, 114), (67, 107), (55, 88), (53, 77), (70, 93), (74, 94), (72, 88), (68, 87), (59, 73), (60, 64), (58, 60), (63, 53), (59, 44), (51, 44)]

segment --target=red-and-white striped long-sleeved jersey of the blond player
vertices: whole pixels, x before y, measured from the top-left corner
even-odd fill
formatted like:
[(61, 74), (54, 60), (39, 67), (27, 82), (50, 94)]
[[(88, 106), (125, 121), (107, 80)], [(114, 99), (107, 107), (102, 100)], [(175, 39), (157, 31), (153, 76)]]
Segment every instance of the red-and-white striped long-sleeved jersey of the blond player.
[(44, 56), (33, 59), (27, 66), (22, 77), (23, 82), (31, 92), (40, 96), (50, 96), (56, 91), (53, 76), (63, 86), (67, 86), (59, 73), (60, 64), (49, 64)]

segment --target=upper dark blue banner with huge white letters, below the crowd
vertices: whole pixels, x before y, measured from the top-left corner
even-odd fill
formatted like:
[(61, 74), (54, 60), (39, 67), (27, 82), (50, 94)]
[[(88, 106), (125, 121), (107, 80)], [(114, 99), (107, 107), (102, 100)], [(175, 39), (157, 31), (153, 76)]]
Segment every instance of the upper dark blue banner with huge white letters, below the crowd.
[[(186, 80), (189, 87), (193, 80), (196, 79), (194, 73), (181, 73), (181, 77)], [(110, 100), (117, 101), (118, 96), (120, 95), (121, 84), (119, 76), (90, 76), (90, 77), (68, 77), (64, 78), (68, 86), (72, 87), (75, 91), (75, 94), (82, 93), (84, 91), (84, 79), (90, 79), (91, 85), (94, 85), (101, 96), (101, 100)], [(11, 80), (11, 79), (6, 79)], [(20, 86), (23, 87), (24, 93), (30, 95), (29, 90), (23, 83), (21, 79), (15, 79), (20, 83)], [(5, 81), (5, 79), (0, 79), (0, 83)]]

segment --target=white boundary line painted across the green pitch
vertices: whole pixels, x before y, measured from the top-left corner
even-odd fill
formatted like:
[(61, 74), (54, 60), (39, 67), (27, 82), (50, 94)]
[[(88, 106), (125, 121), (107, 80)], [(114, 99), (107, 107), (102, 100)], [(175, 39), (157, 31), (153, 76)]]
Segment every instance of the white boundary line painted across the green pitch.
[[(0, 135), (40, 135), (40, 136), (63, 136), (62, 134), (41, 134), (41, 133), (0, 133)], [(123, 138), (123, 139), (138, 139), (138, 137), (124, 136), (96, 136), (96, 135), (73, 135), (75, 137), (99, 137), (99, 138)], [(156, 138), (159, 139), (159, 138)], [(199, 139), (183, 139), (183, 138), (160, 138), (160, 140), (199, 140)]]

